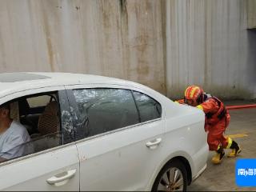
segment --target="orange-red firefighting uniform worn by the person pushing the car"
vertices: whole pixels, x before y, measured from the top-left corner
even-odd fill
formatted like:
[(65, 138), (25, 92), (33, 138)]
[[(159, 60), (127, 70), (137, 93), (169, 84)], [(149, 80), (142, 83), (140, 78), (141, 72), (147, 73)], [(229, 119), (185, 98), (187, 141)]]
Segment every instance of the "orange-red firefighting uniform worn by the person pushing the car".
[[(231, 138), (225, 137), (224, 132), (230, 123), (230, 114), (223, 102), (218, 98), (203, 94), (203, 102), (197, 107), (206, 114), (205, 130), (208, 131), (207, 142), (209, 150), (218, 150), (219, 147), (230, 148)], [(184, 99), (178, 100), (183, 104)]]

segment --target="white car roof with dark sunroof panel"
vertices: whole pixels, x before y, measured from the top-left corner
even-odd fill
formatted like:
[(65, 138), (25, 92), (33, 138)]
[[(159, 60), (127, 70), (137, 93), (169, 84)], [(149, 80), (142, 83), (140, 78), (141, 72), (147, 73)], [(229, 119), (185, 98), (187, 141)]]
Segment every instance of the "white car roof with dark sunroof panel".
[(142, 86), (136, 82), (93, 74), (17, 72), (0, 74), (0, 98), (18, 91), (40, 87), (97, 83), (135, 86), (138, 88), (144, 87), (144, 89), (148, 89), (148, 87)]

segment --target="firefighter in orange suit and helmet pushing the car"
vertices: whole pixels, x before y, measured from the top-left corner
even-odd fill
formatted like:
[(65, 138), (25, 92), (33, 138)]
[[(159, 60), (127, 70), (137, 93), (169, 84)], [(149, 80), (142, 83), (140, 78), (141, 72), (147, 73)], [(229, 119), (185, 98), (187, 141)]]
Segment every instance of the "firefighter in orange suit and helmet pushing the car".
[(232, 151), (227, 156), (234, 158), (241, 152), (241, 147), (230, 137), (226, 137), (224, 132), (230, 123), (230, 114), (223, 102), (218, 98), (206, 94), (199, 86), (188, 86), (185, 90), (185, 97), (176, 101), (180, 104), (195, 106), (206, 114), (205, 130), (209, 150), (215, 150), (216, 154), (212, 158), (214, 164), (222, 162), (225, 155), (224, 149)]

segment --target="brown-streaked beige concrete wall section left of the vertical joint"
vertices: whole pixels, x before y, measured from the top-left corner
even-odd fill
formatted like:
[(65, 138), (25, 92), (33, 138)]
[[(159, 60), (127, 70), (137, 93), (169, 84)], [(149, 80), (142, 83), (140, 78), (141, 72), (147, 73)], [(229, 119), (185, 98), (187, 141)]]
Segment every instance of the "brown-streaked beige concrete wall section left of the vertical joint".
[(0, 1), (0, 70), (130, 79), (165, 92), (162, 2)]

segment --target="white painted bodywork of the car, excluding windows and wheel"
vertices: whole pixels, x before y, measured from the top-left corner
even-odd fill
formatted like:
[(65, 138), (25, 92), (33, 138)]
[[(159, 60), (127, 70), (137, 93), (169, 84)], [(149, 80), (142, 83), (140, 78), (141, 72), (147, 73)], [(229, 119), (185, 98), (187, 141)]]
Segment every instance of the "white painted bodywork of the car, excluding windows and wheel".
[[(86, 74), (28, 74), (46, 75), (50, 78), (0, 82), (0, 104), (39, 92), (108, 87), (136, 90), (149, 95), (161, 104), (162, 118), (85, 138), (76, 142), (76, 145), (62, 146), (62, 149), (54, 148), (43, 151), (42, 154), (4, 162), (0, 165), (0, 174), (3, 175), (0, 176), (0, 182), (6, 183), (3, 186), (0, 183), (2, 190), (18, 190), (19, 187), (19, 190), (36, 190), (36, 186), (49, 185), (45, 182), (47, 177), (67, 169), (77, 169), (77, 173), (80, 173), (75, 174), (73, 180), (70, 179), (71, 186), (78, 185), (75, 190), (151, 190), (159, 171), (172, 158), (186, 158), (192, 178), (197, 177), (206, 166), (209, 152), (203, 129), (204, 114), (201, 110), (179, 105), (147, 86), (122, 79)], [(156, 149), (150, 150), (146, 143), (157, 138), (162, 139), (161, 143)], [(38, 165), (42, 165), (40, 169), (35, 168), (37, 161)], [(51, 164), (48, 166), (46, 162)], [(27, 168), (28, 175), (22, 179), (23, 173), (12, 176), (12, 167), (21, 172)], [(50, 169), (54, 167), (56, 170), (52, 172)], [(5, 180), (5, 175), (10, 175), (14, 181)], [(38, 184), (39, 180), (43, 180), (44, 184)], [(54, 190), (48, 187), (43, 190)], [(71, 190), (62, 187), (58, 189)]]

